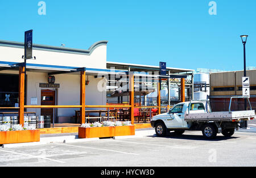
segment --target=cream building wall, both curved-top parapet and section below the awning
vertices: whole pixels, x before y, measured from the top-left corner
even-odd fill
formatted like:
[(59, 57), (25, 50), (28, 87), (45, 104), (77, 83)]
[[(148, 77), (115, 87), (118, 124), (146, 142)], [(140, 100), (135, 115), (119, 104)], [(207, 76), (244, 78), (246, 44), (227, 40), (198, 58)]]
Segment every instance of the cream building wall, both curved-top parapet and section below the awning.
[[(107, 43), (108, 41), (99, 41), (88, 50), (34, 45), (33, 56), (36, 56), (36, 60), (27, 60), (27, 63), (106, 69)], [(0, 61), (24, 62), (22, 45), (22, 43), (0, 41)], [(0, 73), (18, 74), (18, 70), (0, 71)], [(31, 105), (31, 98), (37, 98), (37, 105), (41, 104), (41, 90), (48, 88), (40, 88), (39, 83), (48, 83), (47, 77), (47, 73), (27, 71), (27, 105)], [(60, 84), (60, 88), (56, 88), (56, 105), (80, 105), (80, 75), (61, 74), (55, 75), (55, 78), (55, 83)], [(101, 79), (96, 79), (94, 76), (89, 76), (89, 80), (85, 92), (86, 105), (106, 105), (106, 84), (102, 85)], [(98, 90), (99, 83), (101, 90)], [(72, 117), (78, 109), (57, 109), (57, 117)], [(40, 115), (40, 109), (28, 109), (28, 111)]]

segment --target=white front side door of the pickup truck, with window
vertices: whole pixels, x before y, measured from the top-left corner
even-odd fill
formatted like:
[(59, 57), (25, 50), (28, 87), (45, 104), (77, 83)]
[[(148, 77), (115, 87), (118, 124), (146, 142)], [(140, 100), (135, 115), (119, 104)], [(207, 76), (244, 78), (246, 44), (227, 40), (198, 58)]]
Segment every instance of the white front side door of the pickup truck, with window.
[(179, 104), (170, 111), (170, 119), (166, 121), (167, 128), (184, 128), (183, 107), (184, 104)]

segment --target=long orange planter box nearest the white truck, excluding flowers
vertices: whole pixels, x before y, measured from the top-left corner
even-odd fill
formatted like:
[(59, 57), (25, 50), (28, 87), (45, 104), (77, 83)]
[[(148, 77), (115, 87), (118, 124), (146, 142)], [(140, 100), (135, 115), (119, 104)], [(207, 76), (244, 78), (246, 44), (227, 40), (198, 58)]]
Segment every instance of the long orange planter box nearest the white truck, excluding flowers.
[(79, 138), (106, 138), (125, 135), (135, 135), (135, 126), (112, 126), (101, 128), (79, 127)]

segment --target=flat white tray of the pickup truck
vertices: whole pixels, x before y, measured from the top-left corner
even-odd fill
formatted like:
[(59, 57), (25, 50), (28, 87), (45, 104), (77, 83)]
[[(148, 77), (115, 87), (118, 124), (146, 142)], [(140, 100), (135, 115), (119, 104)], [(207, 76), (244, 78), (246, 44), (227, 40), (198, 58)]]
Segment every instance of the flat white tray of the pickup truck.
[(250, 120), (255, 117), (255, 111), (222, 111), (210, 113), (189, 113), (185, 115), (185, 121), (232, 121), (236, 119)]

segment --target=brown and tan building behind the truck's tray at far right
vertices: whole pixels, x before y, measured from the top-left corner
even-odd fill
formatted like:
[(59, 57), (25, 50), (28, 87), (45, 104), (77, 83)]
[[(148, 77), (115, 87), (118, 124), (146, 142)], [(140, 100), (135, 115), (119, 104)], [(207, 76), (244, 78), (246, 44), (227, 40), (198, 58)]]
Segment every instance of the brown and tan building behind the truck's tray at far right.
[[(250, 103), (256, 109), (256, 70), (247, 70), (250, 77)], [(228, 111), (231, 96), (242, 96), (243, 71), (210, 73), (210, 101), (213, 111)], [(236, 104), (238, 103), (238, 104)], [(247, 105), (249, 109), (249, 105)], [(244, 110), (244, 100), (236, 99), (233, 110)]]

